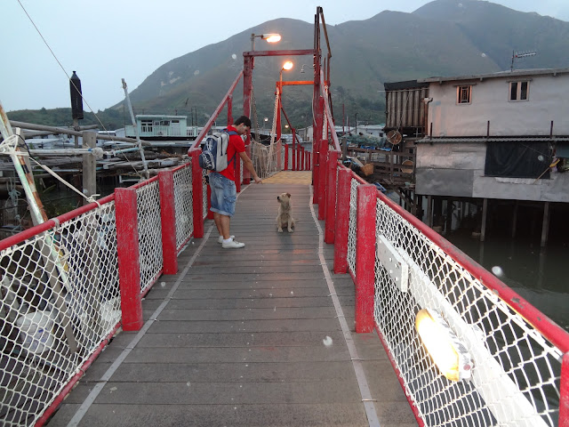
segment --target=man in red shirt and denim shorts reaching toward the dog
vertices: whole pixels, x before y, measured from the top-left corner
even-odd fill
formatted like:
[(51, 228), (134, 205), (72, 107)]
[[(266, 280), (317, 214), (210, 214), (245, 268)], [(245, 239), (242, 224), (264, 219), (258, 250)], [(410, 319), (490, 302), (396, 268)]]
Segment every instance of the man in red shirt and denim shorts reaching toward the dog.
[[(241, 116), (236, 119), (233, 125), (229, 125), (227, 132), (229, 133), (228, 145), (228, 167), (221, 172), (211, 172), (209, 174), (210, 188), (212, 189), (212, 213), (213, 221), (217, 230), (220, 232), (218, 242), (224, 249), (244, 247), (245, 244), (237, 242), (234, 236), (229, 234), (229, 225), (231, 217), (235, 214), (235, 204), (237, 199), (237, 191), (235, 186), (235, 165), (238, 161), (237, 154), (243, 160), (244, 168), (252, 175), (255, 183), (260, 184), (262, 181), (255, 172), (251, 158), (245, 152), (245, 144), (241, 135), (247, 133), (251, 129), (251, 119)], [(235, 132), (235, 133), (231, 133)]]

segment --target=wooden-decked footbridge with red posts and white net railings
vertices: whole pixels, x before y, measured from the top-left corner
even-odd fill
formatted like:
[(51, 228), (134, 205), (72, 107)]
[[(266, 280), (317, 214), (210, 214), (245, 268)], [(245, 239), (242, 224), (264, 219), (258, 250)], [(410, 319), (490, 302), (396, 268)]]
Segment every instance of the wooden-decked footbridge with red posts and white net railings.
[(565, 331), (337, 157), (244, 186), (242, 249), (196, 156), (1, 241), (3, 424), (566, 425)]

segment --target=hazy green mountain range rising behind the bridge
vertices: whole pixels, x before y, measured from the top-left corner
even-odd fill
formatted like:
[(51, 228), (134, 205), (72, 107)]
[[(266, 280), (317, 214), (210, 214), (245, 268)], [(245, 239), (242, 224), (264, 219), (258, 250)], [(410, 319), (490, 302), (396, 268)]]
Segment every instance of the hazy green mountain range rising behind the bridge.
[[(381, 123), (385, 117), (386, 82), (506, 70), (512, 52), (520, 50), (537, 54), (517, 59), (515, 68), (569, 67), (569, 57), (563, 54), (569, 52), (568, 22), (479, 0), (435, 0), (412, 13), (384, 11), (369, 20), (328, 25), (326, 29), (332, 52), (331, 92), (337, 124), (341, 124), (342, 110), (351, 123), (356, 114), (359, 122)], [(157, 68), (130, 93), (135, 113), (187, 115), (188, 123), (204, 125), (243, 67), (242, 52), (251, 50), (251, 34), (276, 31), (283, 36), (279, 44), (256, 39), (256, 49), (313, 47), (313, 24), (270, 20)], [(321, 35), (326, 57), (324, 32)], [(260, 125), (264, 117), (268, 117), (268, 125), (272, 124), (275, 84), (284, 60), (255, 59), (253, 110), (257, 111)], [(310, 57), (291, 60), (295, 67), (283, 72), (283, 80), (312, 79)], [(310, 124), (311, 96), (311, 86), (284, 88), (284, 109), (295, 127)], [(241, 90), (237, 89), (234, 116), (239, 114), (242, 103)], [(123, 103), (106, 111), (114, 112), (116, 122), (116, 113), (124, 114)], [(25, 121), (15, 118), (13, 112), (9, 116)], [(220, 117), (224, 122), (225, 114)]]

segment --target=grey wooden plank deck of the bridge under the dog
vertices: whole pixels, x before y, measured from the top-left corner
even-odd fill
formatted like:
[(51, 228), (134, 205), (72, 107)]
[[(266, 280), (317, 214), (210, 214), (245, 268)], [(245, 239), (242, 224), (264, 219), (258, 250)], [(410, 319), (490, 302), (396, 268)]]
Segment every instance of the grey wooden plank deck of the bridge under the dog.
[[(276, 232), (284, 191), (292, 234)], [(47, 425), (416, 426), (377, 335), (353, 333), (354, 286), (312, 206), (307, 184), (245, 187), (231, 233), (246, 246), (222, 249), (206, 222), (147, 294), (142, 330), (117, 334)]]

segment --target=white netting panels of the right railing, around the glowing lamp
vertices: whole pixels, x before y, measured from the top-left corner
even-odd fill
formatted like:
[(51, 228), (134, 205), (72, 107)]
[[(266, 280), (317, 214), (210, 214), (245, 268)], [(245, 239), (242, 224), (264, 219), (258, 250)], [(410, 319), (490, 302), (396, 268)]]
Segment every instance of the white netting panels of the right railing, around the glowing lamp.
[[(348, 266), (356, 286), (352, 220), (364, 183), (353, 175)], [(418, 421), (566, 425), (559, 415), (569, 334), (379, 191), (376, 203), (373, 320)], [(442, 331), (438, 349), (418, 332), (425, 313)], [(437, 359), (449, 343), (453, 375)]]

